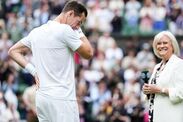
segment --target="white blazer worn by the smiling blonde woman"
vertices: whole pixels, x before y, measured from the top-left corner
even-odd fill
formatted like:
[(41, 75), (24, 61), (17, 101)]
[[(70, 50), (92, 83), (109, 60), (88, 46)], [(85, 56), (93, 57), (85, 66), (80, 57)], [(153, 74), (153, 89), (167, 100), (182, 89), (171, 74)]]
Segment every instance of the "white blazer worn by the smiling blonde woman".
[[(154, 68), (154, 77), (160, 63)], [(154, 122), (183, 122), (183, 60), (172, 55), (164, 70), (156, 79), (156, 85), (169, 89), (169, 96), (156, 94), (154, 99)]]

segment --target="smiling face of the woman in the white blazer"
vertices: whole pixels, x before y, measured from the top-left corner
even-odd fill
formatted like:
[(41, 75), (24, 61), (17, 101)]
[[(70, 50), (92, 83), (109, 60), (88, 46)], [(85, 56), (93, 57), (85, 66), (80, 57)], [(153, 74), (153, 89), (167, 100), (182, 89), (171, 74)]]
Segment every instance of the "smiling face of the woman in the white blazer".
[(163, 36), (157, 43), (156, 49), (162, 59), (168, 60), (173, 54), (173, 47), (168, 36)]

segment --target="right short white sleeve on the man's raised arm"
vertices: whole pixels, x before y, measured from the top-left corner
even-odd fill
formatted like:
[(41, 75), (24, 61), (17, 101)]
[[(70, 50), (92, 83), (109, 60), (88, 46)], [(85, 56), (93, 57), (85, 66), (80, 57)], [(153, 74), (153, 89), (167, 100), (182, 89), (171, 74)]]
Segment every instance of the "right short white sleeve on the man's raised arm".
[(77, 33), (70, 27), (67, 26), (64, 31), (64, 41), (66, 45), (73, 51), (76, 51), (82, 44)]

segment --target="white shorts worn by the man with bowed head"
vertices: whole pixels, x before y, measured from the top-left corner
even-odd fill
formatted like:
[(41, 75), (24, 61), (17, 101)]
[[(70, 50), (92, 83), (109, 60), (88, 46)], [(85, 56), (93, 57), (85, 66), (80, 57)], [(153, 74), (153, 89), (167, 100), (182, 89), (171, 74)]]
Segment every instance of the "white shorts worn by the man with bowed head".
[(79, 122), (77, 101), (50, 99), (36, 94), (39, 122)]

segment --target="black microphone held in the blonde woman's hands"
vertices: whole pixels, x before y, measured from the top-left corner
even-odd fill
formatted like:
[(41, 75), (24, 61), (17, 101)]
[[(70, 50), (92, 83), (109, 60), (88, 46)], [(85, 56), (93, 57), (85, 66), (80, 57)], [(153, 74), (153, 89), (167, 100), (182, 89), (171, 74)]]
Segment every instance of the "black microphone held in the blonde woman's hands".
[[(150, 72), (148, 70), (144, 70), (141, 72), (141, 78), (143, 83), (147, 83), (149, 82), (149, 79), (150, 79)], [(150, 98), (150, 94), (147, 94), (147, 99)]]

